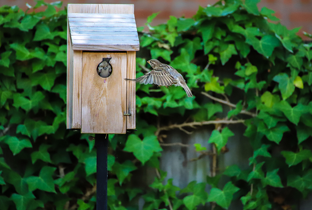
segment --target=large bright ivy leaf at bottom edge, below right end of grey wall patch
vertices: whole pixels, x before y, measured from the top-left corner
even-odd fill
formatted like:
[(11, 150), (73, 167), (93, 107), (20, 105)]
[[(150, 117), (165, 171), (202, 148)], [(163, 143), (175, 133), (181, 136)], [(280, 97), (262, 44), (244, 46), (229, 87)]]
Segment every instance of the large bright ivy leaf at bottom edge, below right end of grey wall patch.
[(228, 182), (223, 187), (223, 190), (212, 188), (207, 201), (216, 202), (222, 208), (228, 209), (232, 202), (233, 194), (238, 190), (238, 187), (235, 187), (231, 182)]

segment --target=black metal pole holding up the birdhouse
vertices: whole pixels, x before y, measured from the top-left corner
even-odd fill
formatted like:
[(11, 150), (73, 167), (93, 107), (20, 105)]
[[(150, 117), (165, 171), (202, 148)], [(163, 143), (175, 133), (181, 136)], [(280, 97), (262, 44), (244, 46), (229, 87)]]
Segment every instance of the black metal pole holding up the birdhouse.
[(107, 210), (108, 134), (95, 134), (95, 146), (96, 146), (96, 210)]

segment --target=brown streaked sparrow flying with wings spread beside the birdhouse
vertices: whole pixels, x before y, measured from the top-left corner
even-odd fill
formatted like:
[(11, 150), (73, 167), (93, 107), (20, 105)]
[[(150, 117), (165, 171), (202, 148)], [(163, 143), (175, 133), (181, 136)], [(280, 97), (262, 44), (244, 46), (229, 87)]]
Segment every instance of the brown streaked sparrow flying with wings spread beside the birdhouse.
[(188, 88), (188, 85), (185, 83), (182, 75), (178, 73), (177, 70), (167, 64), (161, 63), (156, 59), (149, 60), (147, 63), (149, 63), (149, 65), (151, 65), (151, 67), (153, 68), (152, 71), (145, 73), (145, 75), (136, 79), (125, 79), (136, 81), (137, 83), (144, 85), (156, 84), (158, 86), (165, 87), (171, 85), (181, 86), (182, 88), (184, 88), (188, 97), (193, 97), (190, 88)]

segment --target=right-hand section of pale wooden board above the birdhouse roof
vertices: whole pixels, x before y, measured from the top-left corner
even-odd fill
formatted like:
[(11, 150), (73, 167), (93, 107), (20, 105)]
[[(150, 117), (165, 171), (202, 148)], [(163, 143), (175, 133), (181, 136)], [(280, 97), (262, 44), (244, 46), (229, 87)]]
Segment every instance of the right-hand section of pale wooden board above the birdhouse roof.
[(134, 4), (99, 4), (99, 13), (134, 14)]

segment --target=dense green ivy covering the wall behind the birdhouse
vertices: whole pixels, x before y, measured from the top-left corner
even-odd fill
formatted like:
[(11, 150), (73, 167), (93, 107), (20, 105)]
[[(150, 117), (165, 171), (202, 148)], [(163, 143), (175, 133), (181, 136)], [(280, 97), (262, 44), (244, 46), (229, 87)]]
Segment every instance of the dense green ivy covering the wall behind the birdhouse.
[[(219, 1), (193, 18), (151, 26), (155, 13), (149, 32), (138, 28), (136, 76), (159, 59), (183, 74), (194, 97), (181, 87), (137, 84), (137, 131), (109, 135), (109, 209), (138, 209), (141, 197), (144, 210), (227, 209), (235, 200), (243, 209), (289, 210), (311, 191), (312, 44), (257, 2)], [(67, 12), (61, 2), (27, 6), (0, 8), (0, 210), (94, 209), (94, 141), (65, 124)], [(216, 161), (235, 135), (232, 123), (254, 150), (249, 168), (214, 168), (206, 182), (183, 189), (163, 182), (159, 142), (168, 130), (215, 125), (213, 151), (190, 149)], [(157, 172), (149, 186), (137, 184), (145, 167)], [(229, 181), (221, 185), (221, 177)]]

